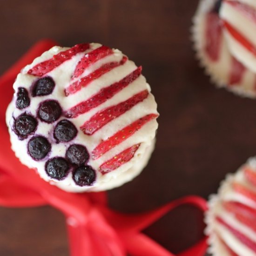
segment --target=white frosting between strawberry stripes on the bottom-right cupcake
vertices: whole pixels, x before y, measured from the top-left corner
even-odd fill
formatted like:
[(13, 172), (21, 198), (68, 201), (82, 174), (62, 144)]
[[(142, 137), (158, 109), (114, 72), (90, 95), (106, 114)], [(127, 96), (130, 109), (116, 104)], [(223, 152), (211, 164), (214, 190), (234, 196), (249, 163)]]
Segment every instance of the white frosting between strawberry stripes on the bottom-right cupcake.
[(206, 233), (209, 235), (209, 252), (212, 253), (213, 256), (230, 256), (229, 251), (223, 245), (222, 241), (239, 256), (256, 256), (255, 251), (238, 239), (226, 226), (216, 221), (216, 216), (221, 217), (229, 226), (256, 243), (256, 231), (240, 222), (232, 212), (229, 212), (223, 207), (224, 202), (231, 201), (239, 202), (252, 209), (256, 209), (255, 201), (233, 189), (233, 183), (236, 182), (256, 193), (256, 186), (252, 185), (244, 175), (246, 168), (250, 168), (256, 172), (256, 158), (250, 158), (245, 165), (239, 168), (236, 174), (228, 175), (226, 180), (222, 182), (218, 194), (210, 197), (209, 211), (206, 215), (208, 225)]

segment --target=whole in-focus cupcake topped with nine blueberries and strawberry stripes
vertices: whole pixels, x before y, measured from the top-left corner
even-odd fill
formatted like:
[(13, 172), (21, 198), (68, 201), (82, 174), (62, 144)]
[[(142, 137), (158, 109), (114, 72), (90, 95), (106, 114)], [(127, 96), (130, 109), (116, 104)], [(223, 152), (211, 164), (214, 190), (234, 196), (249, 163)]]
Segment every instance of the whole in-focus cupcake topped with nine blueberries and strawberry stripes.
[(70, 192), (132, 180), (154, 149), (158, 113), (142, 68), (97, 43), (53, 47), (24, 67), (7, 109), (12, 149)]

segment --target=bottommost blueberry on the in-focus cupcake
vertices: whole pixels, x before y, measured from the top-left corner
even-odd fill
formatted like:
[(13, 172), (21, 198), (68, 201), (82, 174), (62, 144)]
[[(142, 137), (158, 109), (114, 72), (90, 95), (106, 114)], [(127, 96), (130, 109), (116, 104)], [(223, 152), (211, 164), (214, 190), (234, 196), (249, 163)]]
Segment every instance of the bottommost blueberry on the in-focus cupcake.
[(90, 166), (80, 166), (73, 173), (73, 180), (78, 186), (91, 186), (95, 181), (96, 175)]

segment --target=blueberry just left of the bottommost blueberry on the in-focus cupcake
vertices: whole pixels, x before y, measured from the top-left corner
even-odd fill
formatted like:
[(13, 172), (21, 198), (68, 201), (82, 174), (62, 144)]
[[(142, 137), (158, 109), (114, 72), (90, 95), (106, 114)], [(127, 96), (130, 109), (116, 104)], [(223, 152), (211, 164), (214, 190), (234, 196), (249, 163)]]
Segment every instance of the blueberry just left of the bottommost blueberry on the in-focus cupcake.
[(52, 158), (45, 165), (47, 175), (56, 180), (62, 180), (66, 177), (68, 169), (68, 163), (62, 157)]

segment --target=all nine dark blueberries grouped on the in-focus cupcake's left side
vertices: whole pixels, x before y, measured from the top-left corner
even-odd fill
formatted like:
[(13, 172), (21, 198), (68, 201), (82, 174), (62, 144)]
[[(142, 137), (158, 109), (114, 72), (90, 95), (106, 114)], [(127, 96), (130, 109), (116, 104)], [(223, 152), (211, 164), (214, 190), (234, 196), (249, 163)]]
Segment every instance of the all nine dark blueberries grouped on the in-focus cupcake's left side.
[[(44, 96), (53, 92), (55, 87), (51, 77), (43, 77), (35, 82), (32, 89), (32, 96)], [(26, 88), (18, 88), (16, 107), (19, 109), (27, 108), (30, 99)], [(58, 101), (46, 100), (40, 103), (37, 117), (40, 121), (53, 123), (62, 114), (62, 109)], [(34, 134), (38, 121), (32, 115), (21, 114), (14, 122), (14, 132), (20, 140), (24, 140), (28, 135)], [(71, 121), (66, 119), (57, 123), (54, 128), (54, 139), (56, 143), (68, 142), (77, 135), (77, 129)], [(28, 154), (35, 160), (42, 160), (51, 150), (49, 141), (40, 135), (34, 135), (27, 145)], [(57, 180), (63, 180), (70, 168), (73, 168), (74, 182), (79, 186), (89, 186), (95, 181), (96, 175), (93, 168), (86, 165), (89, 160), (87, 149), (79, 144), (71, 145), (66, 152), (65, 158), (54, 157), (46, 162), (45, 170), (47, 175)]]

